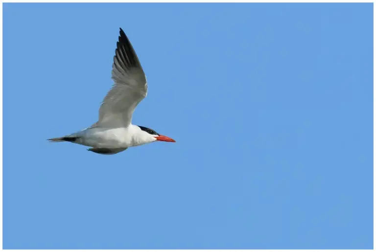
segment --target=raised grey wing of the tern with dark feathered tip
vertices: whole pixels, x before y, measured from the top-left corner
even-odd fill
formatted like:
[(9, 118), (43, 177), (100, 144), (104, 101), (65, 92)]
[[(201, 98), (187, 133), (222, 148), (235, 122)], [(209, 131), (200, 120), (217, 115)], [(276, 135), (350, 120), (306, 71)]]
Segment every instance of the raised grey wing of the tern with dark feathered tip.
[(136, 106), (146, 97), (147, 84), (136, 52), (121, 28), (112, 65), (112, 79), (114, 85), (102, 101), (97, 126), (127, 127)]

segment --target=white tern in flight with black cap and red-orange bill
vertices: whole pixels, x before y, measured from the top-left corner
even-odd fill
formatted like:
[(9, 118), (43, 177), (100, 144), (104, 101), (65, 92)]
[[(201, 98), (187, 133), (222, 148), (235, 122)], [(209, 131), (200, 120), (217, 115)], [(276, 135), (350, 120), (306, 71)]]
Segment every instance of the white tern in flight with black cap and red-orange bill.
[(112, 65), (111, 90), (99, 108), (99, 119), (92, 126), (49, 142), (71, 142), (91, 147), (88, 151), (113, 155), (155, 141), (176, 142), (156, 131), (132, 124), (136, 106), (147, 95), (146, 75), (128, 37), (120, 27)]

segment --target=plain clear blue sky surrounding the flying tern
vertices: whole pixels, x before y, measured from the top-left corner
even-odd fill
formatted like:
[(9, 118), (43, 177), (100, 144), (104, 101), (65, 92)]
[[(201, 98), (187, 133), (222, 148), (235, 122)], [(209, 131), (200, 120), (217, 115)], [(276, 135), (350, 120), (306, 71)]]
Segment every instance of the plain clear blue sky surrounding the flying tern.
[[(3, 5), (4, 249), (372, 249), (373, 5)], [(122, 27), (172, 137), (90, 126)]]

